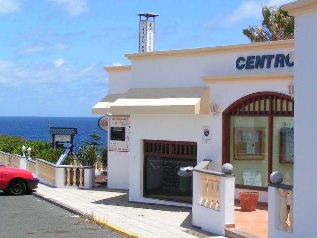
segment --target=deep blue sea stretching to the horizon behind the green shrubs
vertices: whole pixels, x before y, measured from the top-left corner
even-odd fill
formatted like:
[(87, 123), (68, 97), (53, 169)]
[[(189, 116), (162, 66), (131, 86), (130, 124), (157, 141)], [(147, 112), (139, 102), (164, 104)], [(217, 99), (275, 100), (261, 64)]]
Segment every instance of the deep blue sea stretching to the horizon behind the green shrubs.
[[(49, 134), (49, 121), (51, 127), (75, 127), (77, 135), (74, 135), (74, 144), (78, 147), (81, 141), (92, 141), (88, 134), (102, 135), (98, 141), (107, 141), (107, 132), (98, 126), (99, 118), (95, 117), (0, 117), (0, 134), (17, 135), (25, 140), (52, 141)], [(106, 143), (104, 144), (106, 146)]]

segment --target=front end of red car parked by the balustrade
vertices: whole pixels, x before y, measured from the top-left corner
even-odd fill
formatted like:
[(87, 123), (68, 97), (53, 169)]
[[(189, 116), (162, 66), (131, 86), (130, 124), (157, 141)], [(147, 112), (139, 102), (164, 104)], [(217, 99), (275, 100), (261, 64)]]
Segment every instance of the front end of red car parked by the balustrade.
[(37, 179), (30, 171), (0, 164), (0, 190), (11, 195), (21, 195), (38, 187)]

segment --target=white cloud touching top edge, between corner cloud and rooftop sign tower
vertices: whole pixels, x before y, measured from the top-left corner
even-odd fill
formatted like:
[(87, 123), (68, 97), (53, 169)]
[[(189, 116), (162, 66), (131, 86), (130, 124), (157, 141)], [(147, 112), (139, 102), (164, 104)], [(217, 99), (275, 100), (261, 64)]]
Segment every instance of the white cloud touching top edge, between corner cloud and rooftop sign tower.
[(70, 16), (78, 16), (86, 12), (87, 0), (49, 0), (62, 7)]

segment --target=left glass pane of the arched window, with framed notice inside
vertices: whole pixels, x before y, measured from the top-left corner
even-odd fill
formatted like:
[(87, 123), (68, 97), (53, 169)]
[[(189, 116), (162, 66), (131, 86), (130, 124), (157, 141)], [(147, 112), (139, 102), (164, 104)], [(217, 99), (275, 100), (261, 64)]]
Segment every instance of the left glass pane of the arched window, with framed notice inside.
[(267, 187), (268, 118), (231, 117), (230, 126), (235, 183)]

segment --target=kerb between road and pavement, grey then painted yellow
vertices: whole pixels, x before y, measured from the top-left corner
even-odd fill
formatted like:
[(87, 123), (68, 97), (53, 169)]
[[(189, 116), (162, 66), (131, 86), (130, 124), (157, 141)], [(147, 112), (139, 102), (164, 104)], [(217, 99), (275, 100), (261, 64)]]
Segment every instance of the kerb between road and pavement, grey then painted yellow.
[[(62, 209), (64, 209), (64, 210), (69, 211), (69, 212), (71, 212), (71, 213), (74, 213), (74, 214), (76, 214), (76, 215), (79, 215), (79, 216), (80, 216), (80, 215), (85, 215), (85, 214), (82, 213), (81, 211), (76, 210), (76, 209), (74, 209), (74, 208), (71, 208), (71, 207), (69, 207), (69, 206), (66, 205), (66, 204), (63, 204), (63, 203), (61, 203), (61, 202), (58, 202), (58, 201), (56, 201), (56, 200), (54, 200), (54, 199), (52, 199), (52, 198), (47, 198), (47, 197), (45, 197), (45, 196), (42, 195), (41, 193), (32, 192), (32, 195), (35, 196), (35, 197), (41, 198), (41, 199), (44, 200), (44, 201), (47, 201), (47, 202), (49, 202), (49, 203), (52, 203), (53, 205), (58, 206), (58, 207), (60, 207), (60, 208), (62, 208)], [(124, 236), (127, 236), (128, 238), (142, 238), (141, 236), (139, 236), (139, 235), (137, 235), (137, 234), (134, 234), (134, 233), (132, 233), (132, 232), (126, 231), (126, 230), (124, 230), (124, 229), (122, 229), (122, 228), (120, 228), (120, 227), (118, 227), (118, 226), (115, 226), (115, 225), (113, 225), (113, 224), (111, 224), (111, 223), (105, 222), (104, 220), (101, 220), (101, 219), (99, 219), (99, 218), (97, 218), (97, 217), (94, 217), (94, 216), (93, 216), (93, 220), (95, 221), (95, 223), (97, 223), (97, 224), (99, 224), (99, 225), (101, 225), (101, 226), (104, 226), (104, 227), (106, 227), (106, 228), (109, 229), (109, 230), (112, 230), (112, 231), (118, 232), (118, 233), (120, 233), (120, 234), (122, 234), (122, 235), (124, 235)]]

